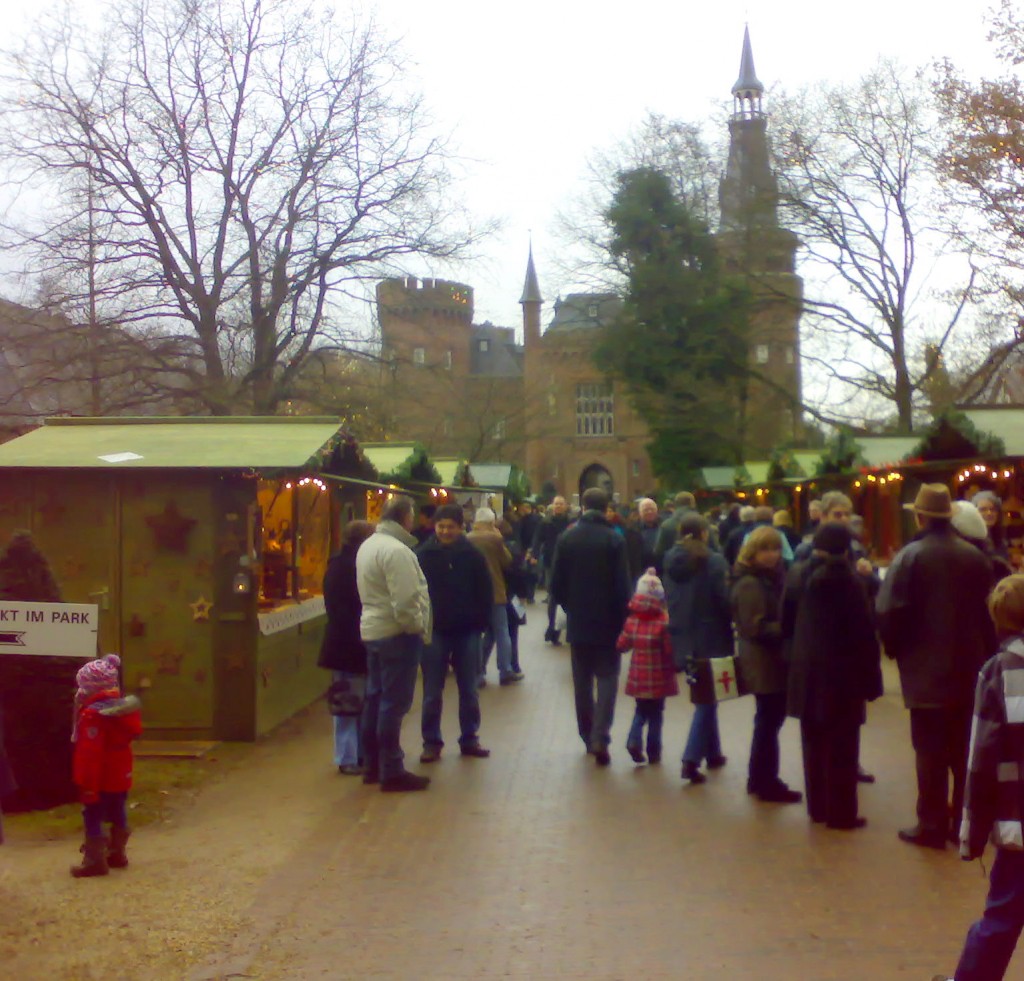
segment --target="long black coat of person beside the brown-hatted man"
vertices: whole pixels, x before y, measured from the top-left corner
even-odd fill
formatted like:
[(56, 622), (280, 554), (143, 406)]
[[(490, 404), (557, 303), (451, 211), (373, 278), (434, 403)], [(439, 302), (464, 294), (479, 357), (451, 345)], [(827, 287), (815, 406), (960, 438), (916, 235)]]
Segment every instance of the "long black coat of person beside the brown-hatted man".
[(882, 694), (882, 665), (863, 577), (846, 556), (795, 565), (782, 600), (786, 712), (817, 726), (860, 725)]

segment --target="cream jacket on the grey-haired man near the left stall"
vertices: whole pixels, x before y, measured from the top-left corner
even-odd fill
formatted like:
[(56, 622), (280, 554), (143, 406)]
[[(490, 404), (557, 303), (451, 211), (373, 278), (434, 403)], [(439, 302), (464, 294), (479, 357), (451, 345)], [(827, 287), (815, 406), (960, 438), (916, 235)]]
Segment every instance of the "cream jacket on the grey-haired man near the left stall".
[(381, 521), (355, 554), (355, 585), (362, 603), (359, 635), (386, 640), (419, 634), (430, 640), (430, 594), (413, 552), (416, 539), (394, 521)]

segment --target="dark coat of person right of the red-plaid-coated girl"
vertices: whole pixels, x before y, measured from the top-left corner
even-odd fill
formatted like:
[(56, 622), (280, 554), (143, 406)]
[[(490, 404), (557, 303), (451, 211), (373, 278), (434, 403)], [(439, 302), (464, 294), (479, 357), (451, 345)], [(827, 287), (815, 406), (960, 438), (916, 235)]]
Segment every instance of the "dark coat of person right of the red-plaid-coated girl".
[(676, 668), (692, 657), (733, 653), (729, 567), (707, 545), (674, 545), (665, 554), (665, 598)]

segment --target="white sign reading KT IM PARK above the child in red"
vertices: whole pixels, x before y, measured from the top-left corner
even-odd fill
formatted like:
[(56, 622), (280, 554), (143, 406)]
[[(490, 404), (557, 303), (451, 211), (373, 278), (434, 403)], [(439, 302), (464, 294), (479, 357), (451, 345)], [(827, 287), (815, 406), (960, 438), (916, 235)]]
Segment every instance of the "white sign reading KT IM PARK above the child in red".
[(96, 657), (99, 607), (0, 600), (0, 654)]

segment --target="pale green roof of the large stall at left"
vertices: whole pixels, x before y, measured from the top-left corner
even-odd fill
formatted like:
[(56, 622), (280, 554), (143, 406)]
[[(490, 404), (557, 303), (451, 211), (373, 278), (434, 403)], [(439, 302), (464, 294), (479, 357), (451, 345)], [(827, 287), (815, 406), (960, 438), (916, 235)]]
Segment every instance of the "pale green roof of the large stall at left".
[(323, 417), (47, 419), (0, 445), (0, 467), (298, 468), (340, 429)]

